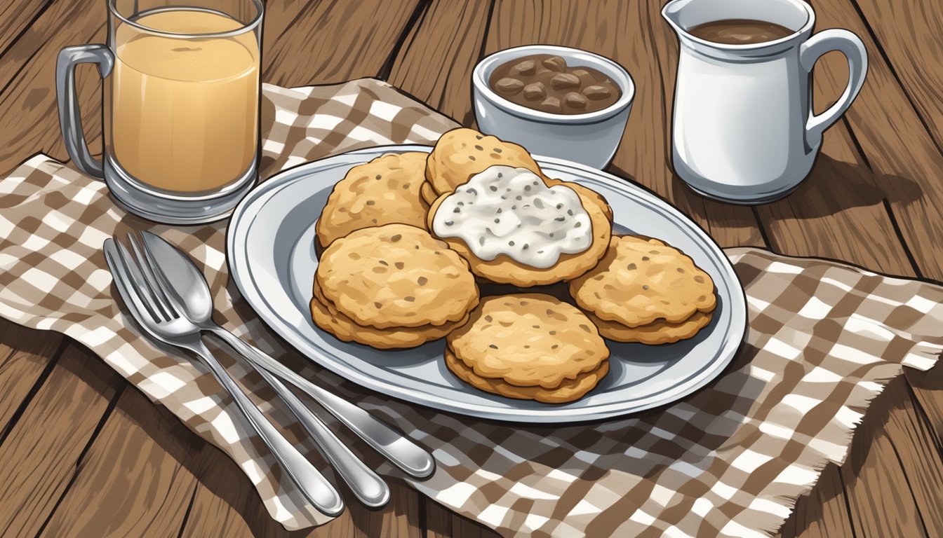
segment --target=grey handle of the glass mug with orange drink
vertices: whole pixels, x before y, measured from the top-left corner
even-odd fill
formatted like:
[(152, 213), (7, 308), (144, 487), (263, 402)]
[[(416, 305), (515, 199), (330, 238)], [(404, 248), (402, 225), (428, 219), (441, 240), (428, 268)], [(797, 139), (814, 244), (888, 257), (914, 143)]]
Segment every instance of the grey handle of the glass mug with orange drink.
[(98, 65), (98, 73), (104, 79), (111, 73), (115, 57), (107, 46), (91, 44), (66, 47), (59, 51), (56, 60), (56, 100), (65, 150), (78, 170), (95, 179), (105, 179), (102, 163), (91, 156), (82, 129), (82, 113), (78, 110), (78, 95), (75, 92), (75, 66), (80, 63)]

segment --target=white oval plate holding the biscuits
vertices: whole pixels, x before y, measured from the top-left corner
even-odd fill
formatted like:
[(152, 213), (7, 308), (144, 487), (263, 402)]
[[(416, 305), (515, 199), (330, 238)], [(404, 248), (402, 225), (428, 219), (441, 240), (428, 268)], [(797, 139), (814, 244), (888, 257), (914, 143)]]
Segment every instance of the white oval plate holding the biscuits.
[(275, 333), (339, 375), (392, 397), (481, 418), (562, 423), (620, 416), (683, 398), (717, 377), (747, 331), (743, 288), (714, 241), (652, 193), (602, 171), (535, 157), (551, 177), (603, 194), (616, 231), (664, 239), (707, 271), (717, 285), (714, 318), (695, 337), (646, 346), (609, 342), (609, 374), (583, 399), (566, 404), (508, 399), (458, 381), (442, 360), (444, 341), (403, 351), (341, 342), (311, 321), (308, 302), (318, 260), (315, 221), (347, 171), (390, 152), (429, 152), (428, 146), (360, 150), (282, 171), (240, 203), (229, 223), (226, 257), (242, 296)]

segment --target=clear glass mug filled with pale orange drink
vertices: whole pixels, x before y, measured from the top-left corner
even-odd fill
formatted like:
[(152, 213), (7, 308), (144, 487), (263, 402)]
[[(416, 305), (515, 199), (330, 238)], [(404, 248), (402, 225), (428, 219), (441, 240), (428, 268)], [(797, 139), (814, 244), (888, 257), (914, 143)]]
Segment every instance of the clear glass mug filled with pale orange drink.
[[(59, 52), (59, 126), (75, 166), (104, 180), (115, 201), (150, 220), (225, 217), (256, 183), (259, 0), (108, 0), (108, 45)], [(91, 156), (75, 66), (104, 84), (104, 162)], [(110, 84), (108, 84), (110, 82)]]

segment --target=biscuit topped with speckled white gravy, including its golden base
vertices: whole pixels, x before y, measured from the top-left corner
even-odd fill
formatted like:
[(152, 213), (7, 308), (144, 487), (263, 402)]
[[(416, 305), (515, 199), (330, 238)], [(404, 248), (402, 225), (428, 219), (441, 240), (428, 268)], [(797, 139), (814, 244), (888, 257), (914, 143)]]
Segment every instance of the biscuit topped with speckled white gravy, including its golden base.
[(554, 284), (595, 266), (612, 233), (599, 199), (573, 187), (528, 169), (492, 166), (439, 196), (427, 225), (478, 276), (525, 287)]

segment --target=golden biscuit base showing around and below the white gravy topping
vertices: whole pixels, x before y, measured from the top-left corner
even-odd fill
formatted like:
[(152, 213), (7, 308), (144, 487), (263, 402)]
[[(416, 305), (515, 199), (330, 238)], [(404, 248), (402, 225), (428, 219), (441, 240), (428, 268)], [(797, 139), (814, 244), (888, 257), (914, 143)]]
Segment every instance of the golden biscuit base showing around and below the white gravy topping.
[[(580, 199), (580, 204), (587, 211), (592, 226), (592, 243), (582, 253), (561, 254), (556, 263), (547, 269), (538, 269), (522, 264), (506, 254), (498, 254), (493, 260), (477, 257), (465, 241), (459, 237), (441, 237), (455, 252), (468, 260), (472, 272), (497, 284), (549, 285), (564, 280), (574, 279), (592, 269), (604, 256), (612, 235), (612, 209), (602, 196), (595, 191), (574, 183), (560, 180), (546, 180), (548, 186), (563, 185), (571, 187)], [(429, 208), (426, 227), (432, 229), (436, 211), (448, 197), (443, 194)]]

